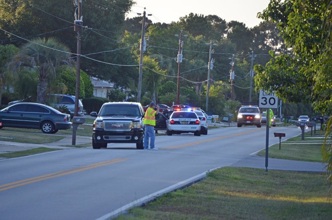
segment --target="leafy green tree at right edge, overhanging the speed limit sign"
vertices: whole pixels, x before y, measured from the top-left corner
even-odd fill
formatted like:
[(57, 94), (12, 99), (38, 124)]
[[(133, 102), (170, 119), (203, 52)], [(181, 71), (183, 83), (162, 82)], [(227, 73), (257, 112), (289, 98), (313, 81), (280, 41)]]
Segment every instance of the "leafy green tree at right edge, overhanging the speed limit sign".
[[(271, 0), (259, 17), (277, 24), (290, 53), (271, 52), (266, 67), (255, 66), (257, 87), (274, 90), (290, 102), (312, 103), (317, 112), (331, 115), (331, 1)], [(331, 138), (330, 127), (325, 137)], [(332, 184), (332, 145), (323, 149)]]

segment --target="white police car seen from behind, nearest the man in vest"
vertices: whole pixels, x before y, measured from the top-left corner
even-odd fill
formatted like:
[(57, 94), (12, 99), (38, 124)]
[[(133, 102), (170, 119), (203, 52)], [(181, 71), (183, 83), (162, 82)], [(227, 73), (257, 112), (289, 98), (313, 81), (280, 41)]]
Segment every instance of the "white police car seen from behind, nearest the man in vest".
[(167, 123), (166, 134), (194, 133), (195, 136), (201, 136), (201, 121), (193, 111), (174, 111)]

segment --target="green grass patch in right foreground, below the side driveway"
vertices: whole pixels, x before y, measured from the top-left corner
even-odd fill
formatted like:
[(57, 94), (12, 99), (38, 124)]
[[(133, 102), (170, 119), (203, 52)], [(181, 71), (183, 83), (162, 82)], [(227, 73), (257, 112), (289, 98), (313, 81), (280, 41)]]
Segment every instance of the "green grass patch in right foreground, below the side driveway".
[(224, 167), (116, 219), (330, 219), (324, 175)]

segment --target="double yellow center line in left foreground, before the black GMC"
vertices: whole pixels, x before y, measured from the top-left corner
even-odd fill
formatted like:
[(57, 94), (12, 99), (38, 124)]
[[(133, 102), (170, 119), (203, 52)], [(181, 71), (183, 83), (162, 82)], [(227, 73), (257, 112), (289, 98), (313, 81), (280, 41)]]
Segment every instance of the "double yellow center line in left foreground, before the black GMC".
[(20, 181), (17, 181), (17, 182), (0, 185), (0, 191), (5, 191), (7, 189), (12, 189), (12, 188), (15, 188), (15, 187), (18, 187), (18, 186), (23, 186), (23, 185), (27, 185), (27, 184), (30, 184), (30, 183), (39, 182), (39, 181), (42, 181), (42, 180), (48, 180), (48, 179), (52, 179), (52, 178), (56, 178), (56, 177), (61, 177), (61, 176), (69, 175), (69, 174), (74, 174), (74, 173), (78, 173), (78, 172), (81, 172), (81, 171), (84, 171), (84, 170), (93, 169), (93, 168), (97, 168), (97, 167), (100, 167), (100, 166), (106, 166), (106, 165), (109, 165), (109, 164), (118, 163), (118, 162), (122, 162), (122, 161), (126, 161), (126, 160), (129, 160), (129, 159), (117, 158), (117, 159), (113, 159), (113, 160), (103, 161), (103, 162), (100, 162), (100, 163), (90, 164), (90, 165), (87, 165), (87, 166), (84, 166), (84, 167), (68, 169), (68, 170), (64, 170), (64, 171), (53, 173), (53, 174), (43, 175), (43, 176), (34, 177), (34, 178), (26, 179), (26, 180), (20, 180)]

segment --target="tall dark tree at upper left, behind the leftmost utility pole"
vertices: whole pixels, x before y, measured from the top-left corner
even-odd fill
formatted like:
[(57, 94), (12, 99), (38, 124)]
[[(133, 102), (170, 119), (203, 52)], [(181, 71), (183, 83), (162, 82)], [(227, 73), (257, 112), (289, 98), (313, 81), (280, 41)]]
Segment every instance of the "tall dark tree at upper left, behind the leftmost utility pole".
[[(122, 38), (122, 32), (118, 30), (133, 4), (132, 0), (82, 1), (81, 69), (88, 75), (112, 80), (120, 78), (122, 82), (126, 81), (125, 76), (135, 77), (132, 67), (126, 65), (137, 63), (123, 55), (125, 49), (117, 50)], [(68, 0), (0, 0), (0, 28), (25, 39), (55, 37), (76, 52), (76, 10), (73, 1)], [(0, 31), (4, 44), (19, 46), (26, 43), (7, 32)]]

